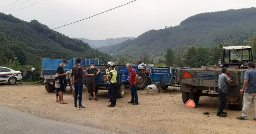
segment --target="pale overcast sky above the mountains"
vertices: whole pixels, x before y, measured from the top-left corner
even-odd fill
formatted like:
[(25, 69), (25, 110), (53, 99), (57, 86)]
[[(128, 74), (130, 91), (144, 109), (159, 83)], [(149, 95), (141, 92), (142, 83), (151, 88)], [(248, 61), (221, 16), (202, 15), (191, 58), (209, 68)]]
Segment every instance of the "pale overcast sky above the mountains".
[[(0, 0), (0, 9), (15, 1), (17, 0)], [(24, 1), (27, 0), (19, 0), (0, 12)], [(29, 0), (4, 13), (9, 14), (36, 1), (39, 0)], [(12, 15), (25, 21), (36, 19), (50, 28), (55, 28), (129, 1), (132, 0), (42, 0)], [(137, 0), (56, 31), (69, 37), (95, 40), (138, 37), (148, 30), (179, 25), (182, 20), (199, 13), (252, 6), (256, 6), (256, 0)]]

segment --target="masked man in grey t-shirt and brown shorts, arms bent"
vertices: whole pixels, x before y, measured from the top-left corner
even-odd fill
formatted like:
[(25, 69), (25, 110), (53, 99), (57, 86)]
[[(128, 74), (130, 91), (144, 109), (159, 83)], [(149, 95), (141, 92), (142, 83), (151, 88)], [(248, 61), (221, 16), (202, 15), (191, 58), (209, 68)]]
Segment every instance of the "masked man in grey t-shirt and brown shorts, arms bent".
[(88, 89), (88, 93), (89, 93), (89, 100), (92, 100), (92, 92), (93, 92), (93, 96), (94, 99), (93, 100), (98, 100), (96, 98), (96, 94), (95, 94), (95, 75), (98, 75), (100, 70), (97, 68), (94, 68), (94, 63), (91, 63), (91, 68), (86, 69), (86, 85), (87, 85), (87, 89)]

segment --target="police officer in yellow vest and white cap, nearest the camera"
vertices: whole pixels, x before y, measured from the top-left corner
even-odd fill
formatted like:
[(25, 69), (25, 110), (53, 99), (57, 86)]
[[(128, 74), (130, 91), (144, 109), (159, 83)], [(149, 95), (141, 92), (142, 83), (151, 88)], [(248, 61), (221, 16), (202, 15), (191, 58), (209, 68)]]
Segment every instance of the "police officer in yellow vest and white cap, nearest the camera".
[(108, 75), (108, 78), (105, 79), (105, 81), (108, 81), (108, 92), (109, 92), (109, 98), (110, 98), (110, 102), (111, 104), (108, 105), (108, 107), (115, 107), (116, 105), (116, 76), (117, 76), (117, 72), (115, 70), (115, 64), (114, 63), (110, 63), (110, 72)]

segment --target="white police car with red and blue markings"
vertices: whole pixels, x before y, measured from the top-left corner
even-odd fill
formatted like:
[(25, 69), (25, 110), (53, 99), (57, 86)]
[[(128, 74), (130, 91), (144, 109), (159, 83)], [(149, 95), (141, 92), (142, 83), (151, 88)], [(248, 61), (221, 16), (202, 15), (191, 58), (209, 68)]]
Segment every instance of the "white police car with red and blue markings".
[(22, 80), (21, 72), (0, 66), (0, 83), (16, 84)]

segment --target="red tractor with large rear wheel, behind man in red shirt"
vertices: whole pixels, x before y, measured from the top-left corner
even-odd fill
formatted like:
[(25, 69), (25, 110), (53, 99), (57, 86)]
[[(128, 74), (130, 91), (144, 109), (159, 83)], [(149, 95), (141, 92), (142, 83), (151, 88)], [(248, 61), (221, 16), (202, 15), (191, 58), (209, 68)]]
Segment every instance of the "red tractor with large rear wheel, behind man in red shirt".
[(136, 60), (135, 65), (138, 65), (138, 82), (137, 87), (138, 90), (144, 89), (147, 85), (151, 84), (152, 81), (149, 78), (149, 68), (147, 65)]

